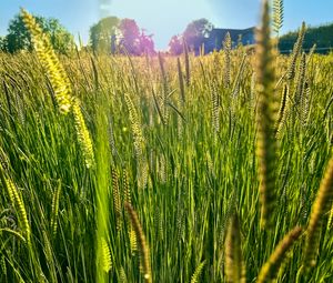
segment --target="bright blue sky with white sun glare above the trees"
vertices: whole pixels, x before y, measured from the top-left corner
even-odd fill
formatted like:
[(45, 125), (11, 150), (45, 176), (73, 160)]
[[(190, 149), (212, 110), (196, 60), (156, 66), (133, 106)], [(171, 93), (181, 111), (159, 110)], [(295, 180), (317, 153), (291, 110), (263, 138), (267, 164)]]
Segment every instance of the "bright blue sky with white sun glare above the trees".
[[(0, 0), (0, 36), (20, 10), (52, 17), (87, 43), (89, 28), (107, 16), (135, 19), (148, 34), (154, 34), (159, 50), (180, 34), (192, 20), (206, 18), (216, 28), (245, 29), (258, 24), (260, 0)], [(310, 26), (333, 22), (332, 0), (284, 0), (282, 33), (297, 29), (304, 20)]]

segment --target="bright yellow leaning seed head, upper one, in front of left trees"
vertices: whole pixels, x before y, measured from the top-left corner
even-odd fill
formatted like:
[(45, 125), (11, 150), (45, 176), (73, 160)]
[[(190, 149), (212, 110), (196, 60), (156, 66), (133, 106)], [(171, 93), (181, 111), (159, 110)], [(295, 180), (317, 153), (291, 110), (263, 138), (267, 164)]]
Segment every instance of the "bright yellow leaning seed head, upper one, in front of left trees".
[(26, 28), (31, 34), (38, 59), (46, 69), (54, 90), (54, 97), (61, 113), (69, 113), (72, 104), (72, 89), (65, 71), (52, 48), (49, 37), (43, 33), (33, 16), (21, 9)]

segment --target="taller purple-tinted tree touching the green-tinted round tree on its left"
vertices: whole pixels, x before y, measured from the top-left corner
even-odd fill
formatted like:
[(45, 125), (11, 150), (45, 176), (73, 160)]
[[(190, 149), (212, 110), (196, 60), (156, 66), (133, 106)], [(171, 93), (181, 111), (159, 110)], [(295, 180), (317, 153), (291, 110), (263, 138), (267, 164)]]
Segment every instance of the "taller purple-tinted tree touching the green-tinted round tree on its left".
[(140, 55), (140, 30), (137, 22), (132, 19), (123, 19), (119, 26), (122, 52)]

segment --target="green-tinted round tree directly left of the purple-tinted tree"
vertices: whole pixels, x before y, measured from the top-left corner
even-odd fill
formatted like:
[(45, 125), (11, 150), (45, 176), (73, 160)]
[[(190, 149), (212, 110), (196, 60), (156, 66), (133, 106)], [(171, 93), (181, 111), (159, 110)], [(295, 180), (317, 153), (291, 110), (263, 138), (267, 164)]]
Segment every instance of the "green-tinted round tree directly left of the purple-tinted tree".
[(120, 20), (117, 17), (108, 17), (90, 28), (90, 44), (93, 51), (114, 52), (119, 22)]

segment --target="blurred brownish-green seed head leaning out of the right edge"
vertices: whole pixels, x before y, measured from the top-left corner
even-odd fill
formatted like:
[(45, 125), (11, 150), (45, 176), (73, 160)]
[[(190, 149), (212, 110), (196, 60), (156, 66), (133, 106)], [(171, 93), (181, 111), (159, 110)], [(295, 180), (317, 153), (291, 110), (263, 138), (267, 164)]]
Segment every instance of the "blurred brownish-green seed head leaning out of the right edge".
[(312, 205), (312, 212), (306, 229), (304, 247), (304, 266), (315, 265), (317, 250), (320, 245), (320, 232), (322, 229), (324, 215), (330, 213), (333, 200), (333, 158), (331, 158), (325, 175), (322, 179), (317, 195)]

